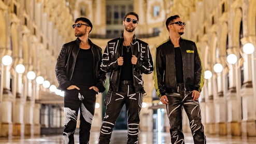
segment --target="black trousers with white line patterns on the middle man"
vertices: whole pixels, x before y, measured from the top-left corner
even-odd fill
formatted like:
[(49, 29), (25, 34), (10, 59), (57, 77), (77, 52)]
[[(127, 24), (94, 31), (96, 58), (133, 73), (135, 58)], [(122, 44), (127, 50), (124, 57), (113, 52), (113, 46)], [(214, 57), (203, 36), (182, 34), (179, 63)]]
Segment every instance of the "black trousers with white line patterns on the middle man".
[(112, 92), (108, 100), (98, 143), (110, 143), (113, 127), (123, 105), (126, 106), (127, 113), (127, 143), (138, 143), (139, 113), (142, 102), (142, 94), (135, 93), (133, 85), (120, 84), (119, 92)]

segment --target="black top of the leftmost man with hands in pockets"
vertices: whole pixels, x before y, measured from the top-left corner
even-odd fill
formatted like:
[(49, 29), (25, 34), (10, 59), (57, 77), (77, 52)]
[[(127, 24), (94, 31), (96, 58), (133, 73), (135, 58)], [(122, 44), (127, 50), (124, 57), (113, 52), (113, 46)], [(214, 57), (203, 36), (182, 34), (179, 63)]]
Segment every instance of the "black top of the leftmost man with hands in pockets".
[(92, 48), (87, 50), (80, 48), (77, 54), (72, 81), (80, 85), (94, 85), (93, 62)]

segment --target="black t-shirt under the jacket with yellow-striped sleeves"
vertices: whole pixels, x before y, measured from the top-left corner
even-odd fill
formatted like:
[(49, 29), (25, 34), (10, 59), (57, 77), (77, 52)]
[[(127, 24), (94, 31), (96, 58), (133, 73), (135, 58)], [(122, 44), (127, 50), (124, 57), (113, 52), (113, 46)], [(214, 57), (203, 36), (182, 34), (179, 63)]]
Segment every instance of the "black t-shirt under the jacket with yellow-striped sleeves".
[(176, 70), (176, 83), (183, 83), (183, 62), (180, 47), (174, 48), (175, 53), (175, 70)]

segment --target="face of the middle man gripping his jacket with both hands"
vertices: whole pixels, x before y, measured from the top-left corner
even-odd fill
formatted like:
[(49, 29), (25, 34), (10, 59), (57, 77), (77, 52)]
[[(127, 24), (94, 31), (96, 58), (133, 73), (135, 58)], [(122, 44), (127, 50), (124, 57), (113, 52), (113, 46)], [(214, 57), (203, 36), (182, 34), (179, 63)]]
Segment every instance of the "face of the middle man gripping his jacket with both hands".
[(133, 32), (137, 27), (138, 20), (136, 16), (128, 15), (126, 19), (123, 21), (124, 30), (127, 32)]

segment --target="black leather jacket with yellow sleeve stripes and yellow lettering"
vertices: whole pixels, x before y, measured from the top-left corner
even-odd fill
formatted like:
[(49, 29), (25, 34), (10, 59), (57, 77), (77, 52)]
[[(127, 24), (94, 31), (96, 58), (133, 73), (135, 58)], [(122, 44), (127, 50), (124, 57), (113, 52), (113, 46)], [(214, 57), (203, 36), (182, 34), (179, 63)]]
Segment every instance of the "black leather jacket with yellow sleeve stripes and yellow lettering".
[[(195, 42), (180, 38), (180, 50), (183, 61), (184, 88), (186, 91), (202, 91), (204, 68), (201, 54)], [(157, 95), (177, 92), (174, 45), (168, 38), (155, 49), (154, 81)]]

